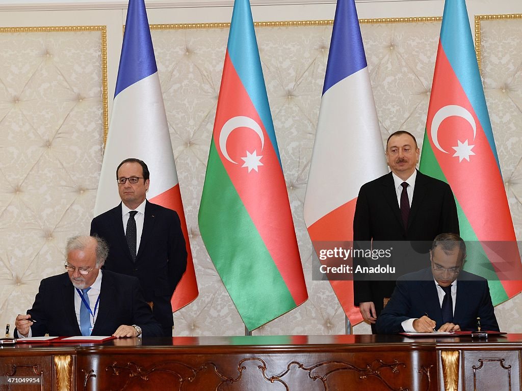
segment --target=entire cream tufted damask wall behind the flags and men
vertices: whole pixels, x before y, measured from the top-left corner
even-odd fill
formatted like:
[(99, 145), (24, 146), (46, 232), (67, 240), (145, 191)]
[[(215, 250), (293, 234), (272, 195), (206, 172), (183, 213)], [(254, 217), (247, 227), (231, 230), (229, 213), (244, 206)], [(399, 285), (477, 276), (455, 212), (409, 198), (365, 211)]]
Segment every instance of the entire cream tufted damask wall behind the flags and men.
[[(478, 20), (478, 26), (484, 85), (520, 238), (522, 20)], [(404, 129), (421, 143), (440, 19), (364, 20), (361, 29), (383, 139)], [(343, 333), (344, 315), (330, 285), (312, 280), (302, 216), (331, 21), (265, 23), (256, 32), (310, 299), (253, 334)], [(104, 129), (102, 35), (0, 34), (2, 47), (10, 48), (0, 53), (0, 175), (6, 184), (0, 189), (0, 324), (31, 306), (41, 278), (62, 271), (66, 237), (88, 231)], [(199, 298), (174, 314), (176, 335), (244, 334), (197, 226), (227, 38), (226, 25), (152, 30), (200, 288)], [(497, 307), (502, 329), (522, 331), (515, 322), (520, 300)], [(369, 329), (359, 325), (354, 332)]]

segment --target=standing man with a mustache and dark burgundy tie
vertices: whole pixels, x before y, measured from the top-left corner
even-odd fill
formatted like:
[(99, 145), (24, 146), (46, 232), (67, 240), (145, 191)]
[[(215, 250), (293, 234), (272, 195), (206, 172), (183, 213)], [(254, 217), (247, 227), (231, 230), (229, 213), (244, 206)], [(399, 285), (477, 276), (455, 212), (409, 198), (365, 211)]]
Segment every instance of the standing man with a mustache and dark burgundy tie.
[[(386, 162), (392, 172), (361, 187), (353, 217), (354, 242), (432, 241), (441, 233), (459, 234), (453, 192), (445, 182), (416, 169), (419, 153), (411, 133), (400, 130), (388, 137)], [(374, 333), (384, 299), (394, 287), (393, 280), (353, 282), (354, 305)]]

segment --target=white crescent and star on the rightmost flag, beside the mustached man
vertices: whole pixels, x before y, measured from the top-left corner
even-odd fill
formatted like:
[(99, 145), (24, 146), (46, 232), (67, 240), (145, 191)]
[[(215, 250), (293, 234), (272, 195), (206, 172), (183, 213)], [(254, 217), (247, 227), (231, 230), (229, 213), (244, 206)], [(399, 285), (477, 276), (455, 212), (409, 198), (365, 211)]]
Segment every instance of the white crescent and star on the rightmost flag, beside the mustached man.
[[(435, 115), (433, 116), (433, 120), (431, 122), (431, 139), (433, 140), (433, 144), (435, 144), (436, 148), (441, 152), (448, 153), (445, 151), (441, 144), (438, 142), (438, 128), (441, 126), (442, 121), (444, 121), (448, 117), (461, 117), (464, 118), (471, 125), (473, 129), (473, 140), (477, 136), (477, 124), (475, 123), (475, 119), (471, 115), (471, 113), (462, 106), (457, 105), (447, 105), (440, 108)], [(469, 162), (469, 157), (474, 155), (475, 153), (471, 151), (474, 145), (468, 145), (468, 140), (461, 142), (457, 140), (457, 146), (452, 146), (455, 150), (454, 157), (459, 158), (459, 163), (462, 160), (466, 159)]]

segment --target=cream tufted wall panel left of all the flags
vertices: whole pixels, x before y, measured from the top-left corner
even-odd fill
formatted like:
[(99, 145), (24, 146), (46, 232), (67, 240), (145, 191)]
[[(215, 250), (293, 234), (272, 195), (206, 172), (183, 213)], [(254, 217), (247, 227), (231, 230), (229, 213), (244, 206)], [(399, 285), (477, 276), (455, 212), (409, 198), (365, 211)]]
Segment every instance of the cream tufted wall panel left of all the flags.
[(0, 30), (0, 324), (88, 233), (106, 125), (105, 27)]

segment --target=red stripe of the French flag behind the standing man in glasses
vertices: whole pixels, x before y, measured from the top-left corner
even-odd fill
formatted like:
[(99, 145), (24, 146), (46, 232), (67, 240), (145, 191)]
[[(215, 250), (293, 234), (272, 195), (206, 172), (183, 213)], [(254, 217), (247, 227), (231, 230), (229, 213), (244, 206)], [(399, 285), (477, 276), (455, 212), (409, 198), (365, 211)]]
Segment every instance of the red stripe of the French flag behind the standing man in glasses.
[(185, 238), (185, 247), (187, 249), (187, 268), (180, 282), (177, 284), (176, 290), (174, 291), (174, 294), (170, 300), (172, 305), (172, 312), (175, 312), (180, 308), (185, 307), (188, 303), (194, 301), (199, 295), (196, 281), (196, 272), (194, 271), (194, 261), (192, 260), (191, 245), (188, 240), (185, 212), (183, 211), (183, 202), (181, 200), (180, 185), (177, 184), (169, 190), (158, 194), (158, 196), (150, 199), (149, 201), (177, 212), (177, 215), (180, 217), (181, 230), (183, 231), (183, 236)]

